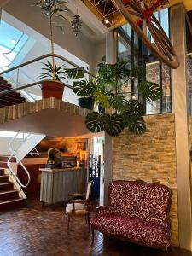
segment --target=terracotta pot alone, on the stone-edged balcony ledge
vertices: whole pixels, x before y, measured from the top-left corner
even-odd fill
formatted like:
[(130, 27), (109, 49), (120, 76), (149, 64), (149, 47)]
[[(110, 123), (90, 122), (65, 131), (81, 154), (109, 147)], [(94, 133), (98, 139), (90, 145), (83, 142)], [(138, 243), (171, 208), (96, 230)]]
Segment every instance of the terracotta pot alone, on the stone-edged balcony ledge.
[(54, 97), (61, 100), (64, 91), (64, 85), (61, 84), (61, 82), (55, 80), (44, 81), (41, 84), (41, 90), (43, 99)]

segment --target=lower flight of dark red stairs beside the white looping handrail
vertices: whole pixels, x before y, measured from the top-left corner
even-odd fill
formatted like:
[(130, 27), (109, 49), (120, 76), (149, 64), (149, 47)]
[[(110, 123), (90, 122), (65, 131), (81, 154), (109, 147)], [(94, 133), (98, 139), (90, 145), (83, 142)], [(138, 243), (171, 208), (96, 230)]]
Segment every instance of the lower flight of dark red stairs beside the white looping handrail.
[(0, 212), (26, 207), (26, 198), (20, 196), (4, 168), (0, 168)]

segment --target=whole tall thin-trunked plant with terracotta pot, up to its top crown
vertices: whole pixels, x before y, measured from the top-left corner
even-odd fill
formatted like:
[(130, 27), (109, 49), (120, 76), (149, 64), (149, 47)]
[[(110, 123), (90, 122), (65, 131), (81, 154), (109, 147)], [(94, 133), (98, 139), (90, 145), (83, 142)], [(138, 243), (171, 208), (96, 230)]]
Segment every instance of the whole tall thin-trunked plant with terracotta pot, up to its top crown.
[[(49, 29), (50, 29), (50, 47), (51, 47), (51, 62), (47, 61), (44, 64), (44, 68), (42, 68), (45, 73), (41, 73), (41, 78), (51, 78), (50, 80), (46, 80), (42, 83), (42, 97), (56, 97), (58, 99), (62, 99), (62, 94), (64, 90), (64, 84), (61, 83), (61, 68), (63, 66), (57, 67), (55, 64), (54, 58), (54, 34), (53, 34), (53, 24), (54, 17), (60, 17), (61, 19), (65, 19), (61, 15), (62, 11), (67, 11), (67, 8), (63, 7), (63, 3), (66, 1), (62, 0), (39, 0), (35, 2), (34, 5), (43, 9), (44, 17), (49, 19)], [(62, 30), (63, 26), (59, 26)]]

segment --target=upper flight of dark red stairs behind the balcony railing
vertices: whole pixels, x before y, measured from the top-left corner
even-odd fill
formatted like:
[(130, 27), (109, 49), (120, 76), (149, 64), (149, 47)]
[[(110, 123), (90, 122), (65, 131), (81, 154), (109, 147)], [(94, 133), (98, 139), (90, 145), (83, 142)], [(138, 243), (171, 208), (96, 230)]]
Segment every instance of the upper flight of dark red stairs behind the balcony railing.
[[(10, 90), (13, 89), (11, 84), (8, 84), (8, 82), (3, 79), (3, 77), (0, 76), (0, 92), (3, 90)], [(24, 97), (20, 96), (20, 93), (18, 92), (9, 92), (5, 95), (0, 96), (0, 108), (3, 108), (5, 106), (11, 106), (15, 104), (20, 104), (26, 102), (26, 99)]]

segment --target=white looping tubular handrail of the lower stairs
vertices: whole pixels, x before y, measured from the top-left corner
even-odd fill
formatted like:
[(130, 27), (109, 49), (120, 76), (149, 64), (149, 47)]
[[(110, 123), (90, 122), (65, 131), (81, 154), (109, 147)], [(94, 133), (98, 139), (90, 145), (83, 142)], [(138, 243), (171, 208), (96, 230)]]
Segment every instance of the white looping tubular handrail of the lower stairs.
[[(9, 156), (9, 160), (7, 161), (7, 165), (8, 165), (8, 167), (9, 167), (9, 171), (11, 172), (11, 175), (13, 175), (13, 176), (15, 177), (15, 180), (17, 181), (17, 183), (19, 183), (20, 188), (21, 188), (21, 187), (22, 187), (22, 188), (26, 188), (26, 187), (28, 186), (28, 184), (31, 182), (31, 176), (30, 176), (29, 172), (27, 171), (26, 166), (23, 165), (23, 163), (20, 161), (20, 159), (17, 157), (17, 155), (16, 155), (15, 153), (16, 153), (16, 151), (18, 150), (18, 148), (20, 148), (20, 146), (22, 145), (22, 143), (25, 143), (25, 142), (26, 142), (26, 140), (28, 139), (28, 137), (31, 136), (31, 134), (28, 133), (28, 135), (26, 136), (26, 138), (23, 139), (22, 142), (21, 142), (15, 149), (13, 149), (13, 148), (12, 148), (12, 147), (13, 147), (12, 143), (15, 141), (15, 139), (16, 139), (16, 137), (19, 135), (19, 133), (20, 133), (20, 132), (17, 132), (17, 133), (15, 134), (15, 137), (13, 137), (12, 140), (9, 142), (9, 151), (11, 152), (11, 155)], [(17, 163), (20, 163), (20, 166), (22, 166), (23, 169), (24, 169), (24, 171), (26, 172), (26, 175), (27, 175), (27, 177), (28, 177), (28, 181), (27, 181), (26, 185), (24, 185), (23, 183), (20, 182), (20, 179), (16, 176), (16, 174), (15, 174), (13, 168), (10, 166), (10, 160), (12, 159), (12, 157), (15, 157), (15, 159), (17, 160)]]

